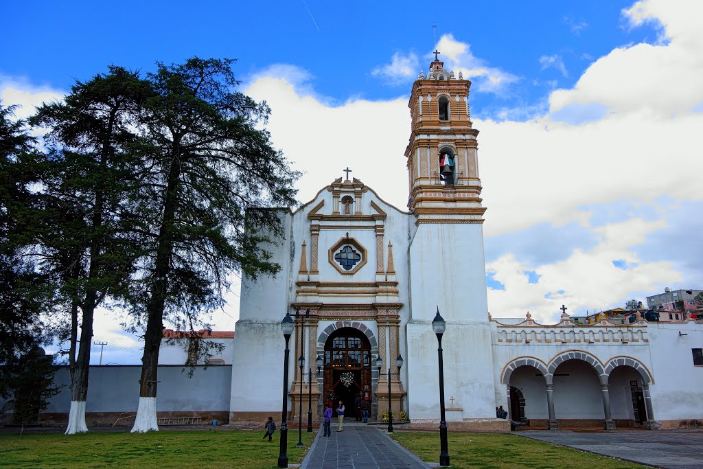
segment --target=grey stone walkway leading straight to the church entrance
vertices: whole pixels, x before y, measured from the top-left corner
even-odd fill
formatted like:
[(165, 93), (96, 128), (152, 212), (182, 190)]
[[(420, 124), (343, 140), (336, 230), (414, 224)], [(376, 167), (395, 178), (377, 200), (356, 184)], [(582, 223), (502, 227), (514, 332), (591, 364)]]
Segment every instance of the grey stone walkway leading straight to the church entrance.
[[(410, 451), (385, 435), (376, 425), (344, 422), (344, 431), (337, 432), (333, 422), (332, 436), (314, 439), (301, 469), (428, 469)], [(385, 430), (385, 428), (384, 428)]]

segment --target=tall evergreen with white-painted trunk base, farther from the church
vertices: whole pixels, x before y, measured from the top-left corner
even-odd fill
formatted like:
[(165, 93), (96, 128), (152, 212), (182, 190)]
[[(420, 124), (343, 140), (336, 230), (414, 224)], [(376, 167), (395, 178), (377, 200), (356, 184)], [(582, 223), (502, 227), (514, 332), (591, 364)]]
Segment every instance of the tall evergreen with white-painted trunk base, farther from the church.
[(67, 434), (87, 431), (94, 311), (109, 297), (124, 297), (140, 254), (140, 221), (133, 214), (143, 167), (133, 147), (149, 89), (136, 72), (110, 67), (77, 82), (63, 103), (41, 106), (30, 120), (51, 129), (44, 137), (51, 150), (36, 162), (44, 217), (52, 221), (39, 236), (39, 258), (44, 271), (63, 281), (71, 309)]

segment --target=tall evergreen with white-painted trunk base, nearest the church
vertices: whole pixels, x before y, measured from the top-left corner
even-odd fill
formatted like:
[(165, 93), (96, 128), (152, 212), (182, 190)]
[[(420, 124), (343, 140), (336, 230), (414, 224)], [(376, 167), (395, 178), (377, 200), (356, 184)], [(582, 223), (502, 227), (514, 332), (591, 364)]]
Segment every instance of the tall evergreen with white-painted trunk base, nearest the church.
[[(147, 158), (155, 169), (143, 200), (153, 219), (143, 288), (132, 297), (146, 322), (137, 417), (132, 432), (158, 430), (157, 364), (165, 318), (174, 323), (223, 303), (228, 275), (275, 274), (261, 248), (280, 233), (275, 212), (295, 204), (299, 176), (259, 127), (269, 108), (235, 91), (234, 60), (191, 58), (157, 63), (156, 94), (146, 104)], [(246, 219), (245, 219), (246, 215)], [(154, 217), (154, 218), (153, 218)], [(247, 229), (245, 229), (247, 224)], [(142, 309), (143, 307), (143, 309)]]

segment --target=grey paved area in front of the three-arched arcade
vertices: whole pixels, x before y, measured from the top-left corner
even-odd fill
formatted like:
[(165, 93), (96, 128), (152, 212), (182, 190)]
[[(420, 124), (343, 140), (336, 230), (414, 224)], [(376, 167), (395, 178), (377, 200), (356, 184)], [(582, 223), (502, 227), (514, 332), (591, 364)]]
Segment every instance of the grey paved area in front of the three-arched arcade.
[(617, 430), (593, 433), (528, 430), (514, 435), (659, 468), (703, 468), (703, 432), (699, 430)]

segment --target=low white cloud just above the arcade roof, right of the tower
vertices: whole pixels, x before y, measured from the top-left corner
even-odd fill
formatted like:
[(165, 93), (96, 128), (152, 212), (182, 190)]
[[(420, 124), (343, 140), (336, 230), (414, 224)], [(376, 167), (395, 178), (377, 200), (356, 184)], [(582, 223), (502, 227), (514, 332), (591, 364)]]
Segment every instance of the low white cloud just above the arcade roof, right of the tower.
[[(505, 290), (488, 290), (489, 309), (494, 317), (522, 317), (530, 311), (534, 319), (550, 323), (562, 304), (569, 313), (591, 312), (620, 304), (632, 292), (656, 291), (662, 279), (681, 281), (671, 262), (641, 262), (633, 249), (647, 233), (664, 228), (662, 220), (628, 219), (595, 227), (602, 238), (591, 250), (576, 249), (568, 259), (554, 264), (529, 266), (506, 254), (486, 264), (486, 271), (505, 285)], [(624, 260), (619, 269), (613, 260)], [(536, 271), (537, 283), (529, 283), (525, 271)], [(585, 312), (585, 311), (584, 311)]]

